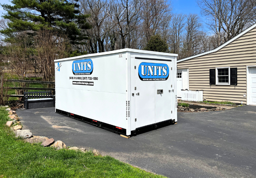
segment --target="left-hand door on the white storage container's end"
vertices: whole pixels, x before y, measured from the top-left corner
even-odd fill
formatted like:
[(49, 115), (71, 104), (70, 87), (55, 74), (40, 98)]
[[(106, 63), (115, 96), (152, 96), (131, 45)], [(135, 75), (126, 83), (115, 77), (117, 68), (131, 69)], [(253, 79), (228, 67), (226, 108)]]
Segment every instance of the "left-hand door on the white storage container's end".
[(155, 119), (155, 60), (135, 58), (135, 118), (136, 128), (154, 124)]

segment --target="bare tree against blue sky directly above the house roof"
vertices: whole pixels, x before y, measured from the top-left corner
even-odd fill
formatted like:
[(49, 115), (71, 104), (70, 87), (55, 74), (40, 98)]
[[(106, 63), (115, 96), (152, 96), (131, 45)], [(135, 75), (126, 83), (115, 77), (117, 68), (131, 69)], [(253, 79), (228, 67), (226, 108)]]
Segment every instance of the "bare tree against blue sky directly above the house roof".
[(222, 38), (226, 42), (256, 22), (255, 0), (198, 0), (197, 4), (217, 35), (218, 46)]

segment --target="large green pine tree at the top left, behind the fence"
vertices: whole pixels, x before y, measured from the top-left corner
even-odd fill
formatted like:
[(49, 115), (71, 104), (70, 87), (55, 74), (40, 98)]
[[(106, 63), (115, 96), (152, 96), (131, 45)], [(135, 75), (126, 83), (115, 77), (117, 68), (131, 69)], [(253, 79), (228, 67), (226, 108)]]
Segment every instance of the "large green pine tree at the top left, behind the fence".
[[(76, 2), (78, 0), (75, 0)], [(9, 37), (20, 32), (34, 33), (40, 29), (54, 29), (68, 36), (72, 44), (84, 44), (87, 39), (83, 30), (90, 28), (86, 22), (89, 15), (81, 15), (77, 3), (67, 0), (12, 0), (1, 4), (9, 19), (9, 28), (1, 30)]]

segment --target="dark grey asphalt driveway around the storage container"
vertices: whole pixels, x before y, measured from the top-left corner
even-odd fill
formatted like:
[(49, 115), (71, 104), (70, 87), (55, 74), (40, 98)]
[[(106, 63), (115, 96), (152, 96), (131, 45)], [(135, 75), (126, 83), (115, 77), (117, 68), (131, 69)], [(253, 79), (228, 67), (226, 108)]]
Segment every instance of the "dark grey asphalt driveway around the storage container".
[(24, 129), (67, 146), (95, 148), (167, 177), (256, 177), (256, 107), (183, 113), (178, 124), (130, 139), (56, 114), (54, 108), (17, 110)]

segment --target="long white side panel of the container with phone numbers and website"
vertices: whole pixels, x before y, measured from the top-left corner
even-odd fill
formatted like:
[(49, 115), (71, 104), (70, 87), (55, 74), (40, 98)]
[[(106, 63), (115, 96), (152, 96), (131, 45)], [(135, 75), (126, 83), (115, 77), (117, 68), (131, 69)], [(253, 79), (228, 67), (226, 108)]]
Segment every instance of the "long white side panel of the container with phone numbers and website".
[(56, 109), (126, 128), (125, 55), (55, 63)]

